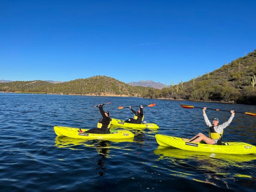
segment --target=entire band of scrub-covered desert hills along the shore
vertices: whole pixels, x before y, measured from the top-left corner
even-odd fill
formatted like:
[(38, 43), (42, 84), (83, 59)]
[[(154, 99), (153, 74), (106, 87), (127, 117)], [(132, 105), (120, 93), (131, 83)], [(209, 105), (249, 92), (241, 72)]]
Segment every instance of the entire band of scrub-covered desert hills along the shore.
[(136, 96), (193, 101), (235, 102), (256, 105), (256, 50), (228, 65), (190, 81), (158, 90), (131, 86), (111, 77), (94, 76), (63, 83), (13, 81), (0, 83), (0, 91), (26, 93)]

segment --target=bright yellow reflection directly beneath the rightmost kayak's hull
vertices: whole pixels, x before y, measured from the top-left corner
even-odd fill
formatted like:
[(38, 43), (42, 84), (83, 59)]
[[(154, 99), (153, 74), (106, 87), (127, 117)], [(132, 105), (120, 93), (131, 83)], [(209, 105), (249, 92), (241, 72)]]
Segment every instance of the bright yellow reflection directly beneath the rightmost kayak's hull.
[(160, 156), (160, 159), (196, 159), (196, 160), (207, 160), (207, 159), (220, 159), (228, 162), (247, 162), (256, 160), (254, 154), (223, 154), (223, 153), (209, 153), (209, 152), (198, 152), (198, 151), (186, 151), (172, 147), (164, 147), (159, 145), (154, 151), (156, 155)]

